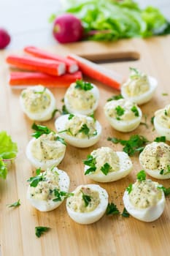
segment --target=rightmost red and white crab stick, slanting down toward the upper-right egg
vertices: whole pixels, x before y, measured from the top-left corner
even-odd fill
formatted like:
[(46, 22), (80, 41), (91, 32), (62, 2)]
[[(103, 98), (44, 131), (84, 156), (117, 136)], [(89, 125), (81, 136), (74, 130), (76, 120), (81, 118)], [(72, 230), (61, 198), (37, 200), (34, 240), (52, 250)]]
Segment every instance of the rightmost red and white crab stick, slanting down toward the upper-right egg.
[(77, 64), (79, 65), (80, 70), (84, 75), (88, 75), (90, 78), (98, 80), (107, 86), (111, 86), (114, 89), (120, 90), (123, 78), (116, 72), (101, 67), (100, 65), (95, 64), (92, 61), (88, 61), (87, 59), (84, 59), (75, 54), (70, 54), (68, 58), (77, 61)]

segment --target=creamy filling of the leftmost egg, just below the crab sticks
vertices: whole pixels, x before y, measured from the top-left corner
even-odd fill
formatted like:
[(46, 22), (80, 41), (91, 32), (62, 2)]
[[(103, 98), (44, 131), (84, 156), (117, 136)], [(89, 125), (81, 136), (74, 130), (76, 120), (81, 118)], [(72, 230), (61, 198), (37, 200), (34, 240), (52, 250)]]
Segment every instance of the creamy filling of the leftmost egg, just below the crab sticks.
[(50, 95), (47, 94), (45, 87), (41, 87), (41, 91), (26, 89), (21, 94), (23, 104), (30, 113), (45, 111), (50, 106)]

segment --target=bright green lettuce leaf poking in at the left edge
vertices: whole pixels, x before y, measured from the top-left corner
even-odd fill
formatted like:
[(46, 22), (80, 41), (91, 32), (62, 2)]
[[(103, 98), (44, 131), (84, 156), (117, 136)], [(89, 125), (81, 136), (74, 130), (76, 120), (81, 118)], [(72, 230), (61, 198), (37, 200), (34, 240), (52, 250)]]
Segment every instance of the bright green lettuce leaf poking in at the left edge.
[(18, 153), (17, 143), (12, 142), (12, 139), (7, 132), (0, 132), (0, 157), (2, 159), (15, 158)]

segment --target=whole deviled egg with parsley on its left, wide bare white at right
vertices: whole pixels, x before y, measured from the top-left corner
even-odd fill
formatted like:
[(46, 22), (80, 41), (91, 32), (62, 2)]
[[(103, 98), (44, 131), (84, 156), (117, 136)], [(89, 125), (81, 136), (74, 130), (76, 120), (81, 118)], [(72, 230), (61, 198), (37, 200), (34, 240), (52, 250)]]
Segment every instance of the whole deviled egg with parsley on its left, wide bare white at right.
[(98, 182), (117, 181), (132, 170), (132, 162), (125, 152), (115, 152), (112, 148), (101, 147), (91, 152), (85, 159), (85, 175)]

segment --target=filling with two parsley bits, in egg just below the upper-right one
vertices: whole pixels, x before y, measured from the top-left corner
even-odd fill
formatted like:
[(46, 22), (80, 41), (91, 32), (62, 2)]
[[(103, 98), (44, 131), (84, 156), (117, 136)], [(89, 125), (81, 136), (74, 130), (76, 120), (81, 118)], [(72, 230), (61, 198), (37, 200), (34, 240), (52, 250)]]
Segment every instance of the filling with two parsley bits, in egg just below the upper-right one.
[(107, 115), (117, 120), (130, 121), (139, 116), (139, 110), (131, 101), (125, 99), (112, 100), (104, 106)]

